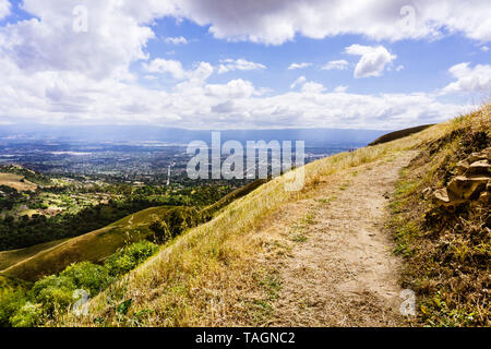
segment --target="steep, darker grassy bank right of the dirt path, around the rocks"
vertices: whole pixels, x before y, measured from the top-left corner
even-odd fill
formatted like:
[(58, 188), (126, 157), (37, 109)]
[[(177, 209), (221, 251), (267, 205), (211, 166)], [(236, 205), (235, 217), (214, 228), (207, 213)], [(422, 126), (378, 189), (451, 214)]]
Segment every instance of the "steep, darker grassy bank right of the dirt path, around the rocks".
[[(426, 325), (491, 326), (491, 173), (483, 166), (490, 155), (488, 105), (454, 119), (443, 135), (422, 144), (402, 174), (390, 226), (405, 258), (403, 285), (417, 293), (418, 320)], [(472, 163), (478, 167), (469, 174)], [(467, 185), (469, 179), (482, 183)], [(436, 200), (443, 189), (451, 200), (446, 207)], [(475, 192), (453, 197), (459, 191), (466, 197)]]

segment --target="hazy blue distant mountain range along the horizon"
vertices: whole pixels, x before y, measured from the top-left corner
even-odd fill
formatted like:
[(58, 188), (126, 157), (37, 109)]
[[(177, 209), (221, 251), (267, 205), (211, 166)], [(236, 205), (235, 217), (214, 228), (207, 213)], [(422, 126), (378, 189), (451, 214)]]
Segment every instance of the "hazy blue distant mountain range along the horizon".
[[(306, 141), (307, 146), (332, 144), (367, 145), (387, 131), (343, 129), (286, 129), (286, 130), (227, 130), (221, 131), (221, 142)], [(53, 127), (44, 124), (3, 125), (0, 142), (56, 141), (83, 143), (163, 142), (188, 144), (200, 140), (211, 143), (212, 130), (183, 130), (147, 125), (84, 125)]]

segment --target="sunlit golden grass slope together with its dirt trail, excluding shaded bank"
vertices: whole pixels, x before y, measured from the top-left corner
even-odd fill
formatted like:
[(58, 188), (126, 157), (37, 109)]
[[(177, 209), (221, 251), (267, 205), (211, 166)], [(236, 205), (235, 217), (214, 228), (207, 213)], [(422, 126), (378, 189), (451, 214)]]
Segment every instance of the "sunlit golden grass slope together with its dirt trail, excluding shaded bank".
[[(454, 135), (458, 148), (460, 139), (455, 134), (467, 134), (472, 124), (481, 143), (465, 152), (489, 146), (487, 106), (408, 137), (310, 164), (301, 192), (284, 190), (291, 173), (276, 178), (164, 246), (96, 297), (91, 315), (68, 315), (60, 322), (67, 326), (394, 326), (408, 321), (395, 303), (403, 286), (411, 286), (418, 297), (418, 318), (411, 322), (423, 322), (428, 294), (418, 284), (402, 285), (398, 276), (414, 265), (410, 254), (400, 253), (400, 231), (406, 230), (394, 222), (396, 213), (384, 208), (388, 198), (393, 207), (400, 195), (400, 182), (396, 183), (400, 169), (415, 176), (428, 171), (410, 161), (424, 152), (433, 156), (428, 164), (441, 168), (433, 163), (434, 154), (451, 161), (442, 155), (448, 151), (441, 140)], [(412, 202), (415, 208), (432, 205), (431, 200), (421, 200), (420, 192), (411, 193), (419, 197)], [(423, 227), (415, 229), (412, 237), (429, 233)], [(489, 265), (489, 233), (482, 237), (480, 248), (488, 252), (481, 255)], [(411, 243), (417, 245), (418, 239)], [(426, 262), (429, 269), (434, 267)], [(125, 301), (132, 302), (128, 314), (111, 305)], [(489, 322), (483, 309), (489, 312), (489, 304), (481, 306), (481, 317), (474, 324)]]

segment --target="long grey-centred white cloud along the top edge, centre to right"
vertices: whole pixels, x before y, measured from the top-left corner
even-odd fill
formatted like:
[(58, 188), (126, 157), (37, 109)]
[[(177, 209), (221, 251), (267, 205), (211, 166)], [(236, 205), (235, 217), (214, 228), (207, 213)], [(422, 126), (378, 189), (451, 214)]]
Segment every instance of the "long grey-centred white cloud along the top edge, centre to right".
[(323, 1), (323, 0), (175, 0), (179, 14), (209, 25), (217, 38), (280, 45), (296, 35), (325, 38), (344, 34), (375, 40), (438, 38), (462, 33), (491, 40), (491, 2), (468, 1)]

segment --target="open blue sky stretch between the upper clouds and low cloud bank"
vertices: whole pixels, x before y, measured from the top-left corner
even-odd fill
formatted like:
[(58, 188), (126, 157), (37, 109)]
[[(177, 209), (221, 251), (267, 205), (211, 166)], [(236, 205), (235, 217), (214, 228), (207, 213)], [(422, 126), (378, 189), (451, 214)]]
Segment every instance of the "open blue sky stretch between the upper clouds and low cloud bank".
[[(467, 61), (474, 64), (490, 63), (491, 55), (480, 49), (483, 46), (481, 43), (466, 39), (462, 35), (452, 35), (434, 41), (398, 43), (376, 41), (362, 35), (340, 35), (324, 39), (298, 36), (280, 46), (266, 46), (216, 39), (208, 33), (208, 28), (209, 26), (199, 26), (189, 20), (182, 22), (172, 17), (159, 20), (153, 26), (157, 39), (148, 43), (147, 51), (152, 57), (179, 60), (185, 67), (192, 67), (196, 60), (218, 62), (227, 58), (243, 58), (267, 67), (267, 71), (231, 72), (223, 76), (213, 76), (209, 79), (213, 83), (226, 83), (228, 79), (242, 77), (254, 82), (258, 86), (287, 92), (291, 82), (301, 74), (328, 88), (347, 85), (350, 92), (363, 94), (433, 92), (453, 81), (448, 74), (451, 67)], [(190, 44), (166, 43), (166, 37), (184, 37)], [(398, 57), (394, 61), (393, 70), (380, 77), (354, 79), (352, 69), (359, 58), (344, 53), (345, 48), (354, 44), (383, 45)], [(347, 60), (351, 69), (321, 70), (328, 61), (335, 60)], [(292, 62), (309, 62), (313, 65), (288, 71)], [(395, 71), (398, 65), (404, 65), (404, 70)]]

